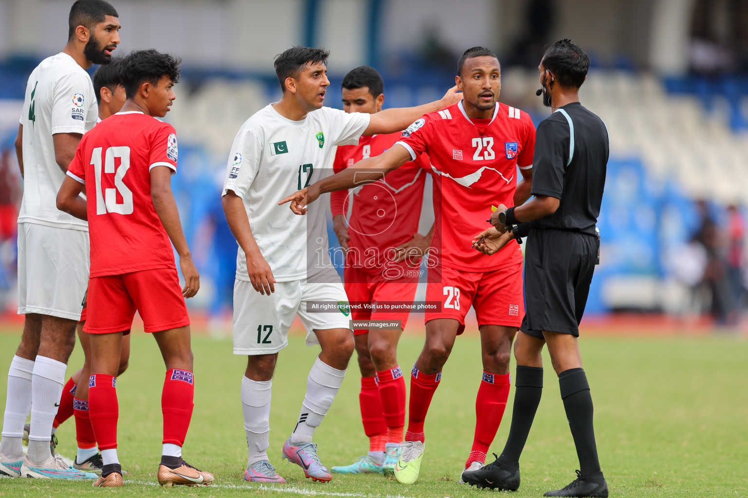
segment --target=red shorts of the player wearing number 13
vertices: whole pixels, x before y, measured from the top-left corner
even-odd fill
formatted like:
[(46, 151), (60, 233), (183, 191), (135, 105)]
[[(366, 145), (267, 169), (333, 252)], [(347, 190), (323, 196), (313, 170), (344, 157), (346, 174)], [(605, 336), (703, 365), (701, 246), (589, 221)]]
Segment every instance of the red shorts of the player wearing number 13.
[(174, 268), (93, 277), (88, 281), (91, 313), (83, 331), (89, 334), (125, 332), (138, 311), (145, 332), (162, 332), (189, 325), (187, 307)]

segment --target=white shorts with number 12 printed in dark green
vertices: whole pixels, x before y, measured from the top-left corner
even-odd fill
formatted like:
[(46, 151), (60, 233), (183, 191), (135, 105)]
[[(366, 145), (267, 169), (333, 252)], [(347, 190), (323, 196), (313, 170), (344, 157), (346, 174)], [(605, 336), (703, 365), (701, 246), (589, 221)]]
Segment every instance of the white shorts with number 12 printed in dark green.
[[(330, 313), (307, 312), (307, 301), (341, 302)], [(319, 344), (315, 330), (349, 329), (348, 296), (343, 284), (278, 282), (263, 296), (252, 283), (234, 282), (233, 343), (235, 355), (272, 355), (288, 346), (288, 329), (298, 314), (307, 329), (307, 346)]]

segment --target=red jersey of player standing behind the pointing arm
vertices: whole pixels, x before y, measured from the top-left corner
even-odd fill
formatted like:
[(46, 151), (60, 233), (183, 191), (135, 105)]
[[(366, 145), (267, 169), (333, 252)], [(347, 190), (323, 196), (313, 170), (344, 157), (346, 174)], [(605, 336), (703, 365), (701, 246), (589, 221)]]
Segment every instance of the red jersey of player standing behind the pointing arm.
[[(401, 137), (400, 133), (361, 137), (358, 146), (339, 146), (333, 169), (343, 171), (358, 161), (373, 158), (389, 149)], [(346, 264), (370, 275), (378, 275), (395, 265), (386, 262), (393, 248), (413, 238), (418, 231), (423, 186), (429, 171), (429, 158), (420, 156), (403, 164), (380, 181), (360, 189), (331, 193), (332, 215), (346, 215), (353, 202), (348, 234), (349, 252)], [(405, 267), (406, 263), (397, 265)], [(399, 278), (397, 272), (390, 272)]]

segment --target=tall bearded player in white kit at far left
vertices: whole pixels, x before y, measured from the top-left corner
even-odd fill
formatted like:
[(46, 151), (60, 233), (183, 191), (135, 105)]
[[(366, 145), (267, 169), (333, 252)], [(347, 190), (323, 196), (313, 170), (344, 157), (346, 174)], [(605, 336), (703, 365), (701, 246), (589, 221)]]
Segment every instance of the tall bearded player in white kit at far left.
[[(70, 8), (62, 52), (31, 72), (16, 153), (24, 178), (18, 217), (18, 313), (21, 344), (8, 371), (0, 474), (41, 479), (95, 479), (50, 452), (65, 369), (88, 284), (88, 225), (55, 204), (82, 135), (96, 124), (93, 84), (85, 69), (109, 63), (120, 43), (117, 10), (104, 0)], [(33, 410), (31, 407), (33, 405)], [(28, 454), (23, 425), (31, 411)]]

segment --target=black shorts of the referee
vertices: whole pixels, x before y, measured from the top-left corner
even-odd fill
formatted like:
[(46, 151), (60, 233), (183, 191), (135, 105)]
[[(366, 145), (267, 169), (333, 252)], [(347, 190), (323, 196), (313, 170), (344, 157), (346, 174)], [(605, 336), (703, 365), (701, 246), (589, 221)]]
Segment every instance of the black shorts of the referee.
[(579, 337), (595, 270), (597, 240), (579, 231), (533, 228), (524, 254), (525, 315), (521, 331)]

